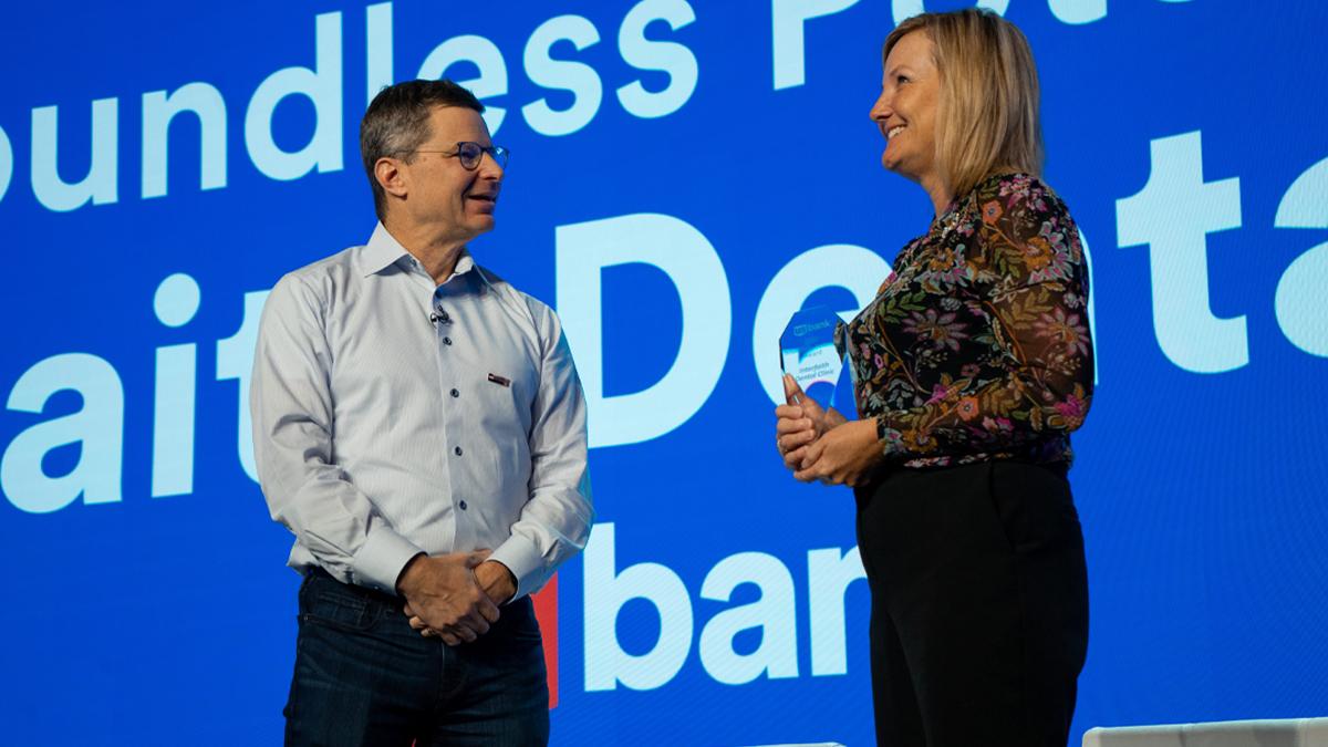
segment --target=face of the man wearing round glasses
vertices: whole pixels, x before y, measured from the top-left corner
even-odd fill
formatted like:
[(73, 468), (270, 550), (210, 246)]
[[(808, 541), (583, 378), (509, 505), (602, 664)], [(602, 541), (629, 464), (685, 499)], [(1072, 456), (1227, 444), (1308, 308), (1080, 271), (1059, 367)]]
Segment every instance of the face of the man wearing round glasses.
[(502, 166), (487, 153), (474, 169), (466, 169), (456, 157), (458, 142), (493, 146), (483, 117), (463, 106), (434, 106), (429, 125), (429, 138), (402, 166), (406, 215), (417, 227), (454, 241), (493, 230)]

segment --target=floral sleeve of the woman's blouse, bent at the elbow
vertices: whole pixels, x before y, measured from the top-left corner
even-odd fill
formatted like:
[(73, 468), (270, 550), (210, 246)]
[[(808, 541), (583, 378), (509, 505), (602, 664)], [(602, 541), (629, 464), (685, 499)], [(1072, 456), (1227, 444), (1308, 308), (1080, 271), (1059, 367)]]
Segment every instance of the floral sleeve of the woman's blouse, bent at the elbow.
[[(930, 453), (1027, 452), (1084, 423), (1093, 396), (1088, 276), (1078, 230), (1031, 179), (977, 194), (975, 311), (995, 356), (971, 362), (923, 407), (878, 416), (891, 461)], [(976, 218), (975, 218), (976, 221)]]

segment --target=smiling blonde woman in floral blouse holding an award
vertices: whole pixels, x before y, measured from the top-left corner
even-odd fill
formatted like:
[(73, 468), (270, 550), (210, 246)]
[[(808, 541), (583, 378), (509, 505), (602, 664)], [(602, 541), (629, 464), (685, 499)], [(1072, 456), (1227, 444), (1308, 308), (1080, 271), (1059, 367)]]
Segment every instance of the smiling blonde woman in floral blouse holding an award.
[(1069, 734), (1088, 578), (1065, 473), (1093, 347), (1078, 231), (1037, 178), (1037, 108), (1028, 43), (991, 12), (890, 35), (871, 109), (882, 163), (936, 218), (849, 324), (862, 419), (791, 379), (776, 411), (798, 480), (855, 488), (880, 744)]

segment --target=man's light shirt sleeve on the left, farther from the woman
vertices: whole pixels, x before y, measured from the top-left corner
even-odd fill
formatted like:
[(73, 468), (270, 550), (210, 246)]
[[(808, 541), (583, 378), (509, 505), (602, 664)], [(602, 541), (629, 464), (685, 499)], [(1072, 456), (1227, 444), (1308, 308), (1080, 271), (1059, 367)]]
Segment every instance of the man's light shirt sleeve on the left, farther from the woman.
[(335, 463), (324, 307), (296, 275), (268, 294), (250, 384), (254, 459), (272, 518), (347, 584), (396, 593), (422, 550), (397, 534)]

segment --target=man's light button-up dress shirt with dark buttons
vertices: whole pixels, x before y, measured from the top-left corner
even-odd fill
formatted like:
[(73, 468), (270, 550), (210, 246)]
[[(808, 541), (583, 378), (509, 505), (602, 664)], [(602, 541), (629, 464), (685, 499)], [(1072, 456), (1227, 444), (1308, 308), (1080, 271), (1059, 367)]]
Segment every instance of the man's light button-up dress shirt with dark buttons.
[(462, 253), (441, 286), (380, 223), (263, 308), (254, 452), (290, 565), (394, 593), (417, 553), (487, 548), (538, 590), (594, 509), (558, 316)]

